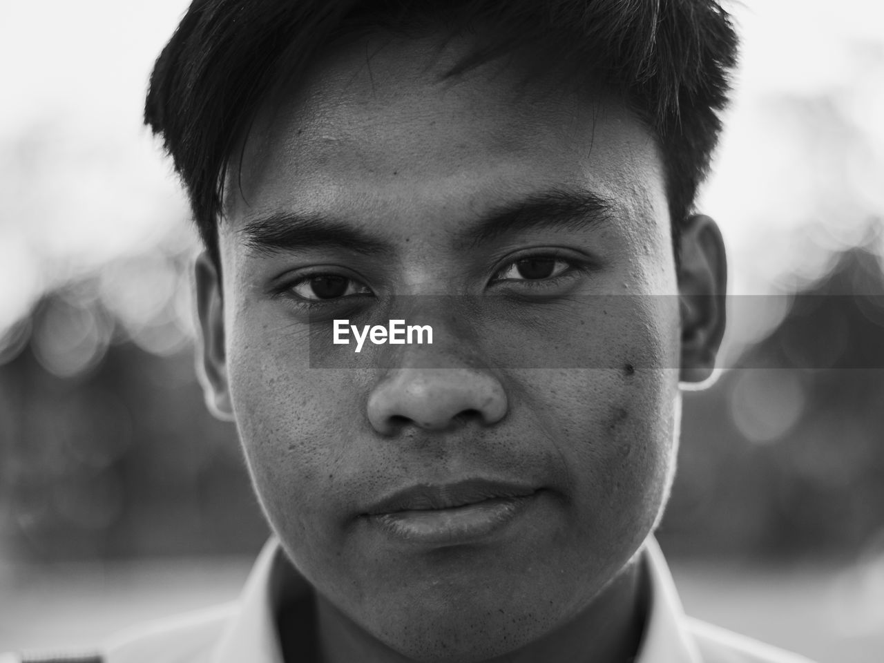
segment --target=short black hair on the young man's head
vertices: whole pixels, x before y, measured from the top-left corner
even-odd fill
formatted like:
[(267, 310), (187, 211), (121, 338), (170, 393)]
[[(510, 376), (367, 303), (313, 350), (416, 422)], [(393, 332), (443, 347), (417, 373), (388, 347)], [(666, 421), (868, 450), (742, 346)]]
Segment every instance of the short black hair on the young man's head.
[(434, 29), (481, 35), (446, 76), (530, 50), (544, 56), (538, 74), (553, 65), (567, 80), (601, 80), (620, 94), (658, 141), (677, 238), (709, 169), (736, 62), (734, 27), (714, 0), (194, 0), (156, 60), (144, 118), (162, 135), (218, 266), (225, 173), (280, 80), (297, 84), (347, 39)]

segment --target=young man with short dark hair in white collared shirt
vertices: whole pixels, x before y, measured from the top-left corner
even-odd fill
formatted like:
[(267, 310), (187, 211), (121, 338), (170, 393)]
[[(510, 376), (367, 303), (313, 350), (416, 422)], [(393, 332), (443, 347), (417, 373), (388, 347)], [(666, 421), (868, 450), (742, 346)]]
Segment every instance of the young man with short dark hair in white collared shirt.
[(692, 204), (735, 43), (710, 0), (196, 0), (146, 118), (275, 537), (103, 659), (799, 660), (686, 620), (652, 538), (724, 329)]

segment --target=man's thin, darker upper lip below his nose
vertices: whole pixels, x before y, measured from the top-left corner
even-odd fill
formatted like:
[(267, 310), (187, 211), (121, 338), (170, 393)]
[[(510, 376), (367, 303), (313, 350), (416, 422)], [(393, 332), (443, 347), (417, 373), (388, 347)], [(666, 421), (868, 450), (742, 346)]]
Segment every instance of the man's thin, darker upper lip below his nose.
[(527, 497), (537, 488), (504, 481), (467, 479), (453, 484), (415, 484), (380, 499), (368, 515), (463, 507), (486, 499)]

